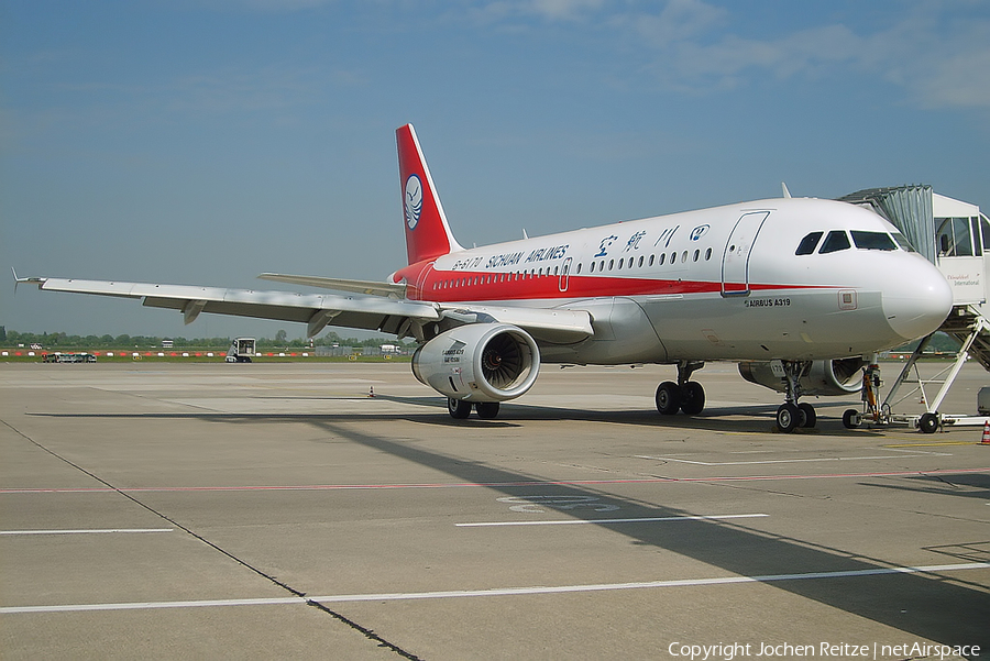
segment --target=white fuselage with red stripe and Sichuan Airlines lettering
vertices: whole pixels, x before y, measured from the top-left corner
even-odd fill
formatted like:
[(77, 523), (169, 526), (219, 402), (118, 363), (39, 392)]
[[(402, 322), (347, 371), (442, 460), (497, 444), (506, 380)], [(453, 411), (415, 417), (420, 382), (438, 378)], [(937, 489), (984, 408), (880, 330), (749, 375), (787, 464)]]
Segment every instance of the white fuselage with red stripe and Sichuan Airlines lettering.
[(592, 339), (534, 333), (544, 362), (834, 359), (925, 335), (948, 312), (945, 278), (897, 233), (844, 202), (771, 199), (459, 251), (394, 279), (446, 305), (588, 311)]

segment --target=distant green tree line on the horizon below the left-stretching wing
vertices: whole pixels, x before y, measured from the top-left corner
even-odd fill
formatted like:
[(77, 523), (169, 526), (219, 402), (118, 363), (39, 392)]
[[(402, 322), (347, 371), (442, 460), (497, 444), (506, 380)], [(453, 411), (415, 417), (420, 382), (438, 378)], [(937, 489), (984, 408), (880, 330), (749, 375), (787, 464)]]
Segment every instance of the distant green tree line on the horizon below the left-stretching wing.
[[(63, 349), (154, 349), (162, 346), (162, 341), (172, 341), (176, 349), (223, 349), (231, 344), (231, 338), (160, 338), (152, 335), (70, 335), (64, 332), (43, 332), (43, 333), (23, 333), (15, 330), (7, 330), (0, 326), (0, 345), (16, 346), (23, 344), (41, 344), (45, 349), (63, 348)], [(314, 346), (380, 346), (382, 344), (396, 344), (398, 346), (407, 346), (399, 340), (394, 338), (369, 338), (359, 340), (358, 338), (341, 338), (336, 332), (329, 332), (321, 338), (314, 340)], [(415, 345), (409, 344), (409, 345)], [(279, 330), (274, 338), (257, 338), (257, 346), (285, 346), (302, 349), (310, 346), (308, 340), (297, 338), (288, 339), (288, 333)]]

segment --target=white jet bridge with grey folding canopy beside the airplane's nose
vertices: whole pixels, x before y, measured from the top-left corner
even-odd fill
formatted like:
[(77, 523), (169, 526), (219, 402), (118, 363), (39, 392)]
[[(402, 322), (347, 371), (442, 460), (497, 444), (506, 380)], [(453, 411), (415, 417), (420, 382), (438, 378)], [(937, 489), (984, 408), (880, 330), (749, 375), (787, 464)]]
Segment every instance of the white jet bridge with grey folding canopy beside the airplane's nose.
[[(850, 427), (858, 421), (881, 425), (906, 422), (926, 433), (946, 425), (985, 425), (990, 417), (945, 414), (939, 408), (967, 360), (971, 357), (990, 371), (990, 306), (987, 302), (990, 298), (990, 277), (987, 275), (990, 219), (976, 205), (938, 195), (931, 186), (870, 188), (839, 199), (868, 207), (889, 220), (945, 275), (953, 288), (954, 305), (936, 332), (947, 333), (961, 344), (952, 365), (924, 379), (917, 370), (917, 361), (935, 333), (924, 338), (879, 405), (873, 393), (879, 377), (871, 379), (868, 371), (864, 378), (866, 410), (860, 420), (847, 414), (844, 421)], [(905, 387), (910, 389), (905, 392)], [(930, 397), (927, 390), (936, 387), (937, 393)], [(892, 412), (893, 407), (919, 393), (925, 405), (923, 415), (898, 416)]]

